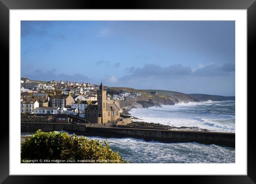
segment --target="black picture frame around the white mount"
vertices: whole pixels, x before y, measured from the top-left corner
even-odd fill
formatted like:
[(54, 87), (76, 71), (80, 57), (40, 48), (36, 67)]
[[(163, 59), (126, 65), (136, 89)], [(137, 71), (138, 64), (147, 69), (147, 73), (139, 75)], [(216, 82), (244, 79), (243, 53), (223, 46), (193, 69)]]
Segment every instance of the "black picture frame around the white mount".
[[(0, 44), (2, 51), (2, 63), (9, 61), (10, 9), (246, 9), (247, 56), (248, 61), (255, 61), (255, 53), (253, 50), (253, 46), (255, 46), (256, 40), (255, 0), (129, 0), (127, 1), (127, 3), (124, 3), (123, 1), (97, 2), (89, 0), (0, 0)], [(11, 114), (9, 114), (9, 116), (11, 116)], [(0, 182), (46, 183), (49, 181), (53, 181), (53, 178), (55, 177), (58, 177), (58, 182), (67, 182), (68, 179), (70, 179), (68, 176), (9, 176), (9, 124), (7, 124), (6, 121), (2, 121), (1, 128), (2, 131), (0, 139)], [(247, 123), (247, 175), (172, 176), (172, 178), (177, 178), (180, 181), (188, 179), (189, 182), (192, 183), (255, 183), (256, 144), (254, 135), (255, 133), (252, 121)], [(82, 179), (83, 177), (86, 177), (87, 180), (89, 178), (88, 176), (75, 177), (76, 180), (78, 178)], [(97, 183), (104, 182), (106, 178), (110, 177), (111, 176), (98, 177)], [(128, 176), (124, 176), (122, 180), (125, 180), (126, 177)]]

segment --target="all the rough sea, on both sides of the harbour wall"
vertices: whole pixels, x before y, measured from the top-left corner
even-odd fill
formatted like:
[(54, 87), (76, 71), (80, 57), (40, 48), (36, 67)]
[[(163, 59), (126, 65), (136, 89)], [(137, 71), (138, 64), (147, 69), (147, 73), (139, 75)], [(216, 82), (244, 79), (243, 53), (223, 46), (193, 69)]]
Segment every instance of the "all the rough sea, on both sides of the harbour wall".
[[(235, 132), (235, 101), (179, 103), (174, 106), (137, 108), (129, 111), (137, 121), (175, 127), (199, 127), (209, 131)], [(68, 132), (72, 135), (72, 132)], [(31, 133), (22, 133), (31, 135)], [(235, 163), (235, 148), (215, 144), (161, 143), (136, 138), (104, 138), (114, 152), (130, 163)]]

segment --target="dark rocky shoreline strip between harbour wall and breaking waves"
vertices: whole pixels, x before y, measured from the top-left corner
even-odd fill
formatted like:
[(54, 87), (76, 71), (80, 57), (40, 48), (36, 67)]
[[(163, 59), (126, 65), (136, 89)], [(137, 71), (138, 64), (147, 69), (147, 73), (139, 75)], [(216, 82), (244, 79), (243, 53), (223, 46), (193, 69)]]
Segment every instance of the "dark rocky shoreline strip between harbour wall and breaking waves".
[[(139, 120), (137, 117), (132, 117), (134, 120)], [(163, 130), (180, 130), (180, 131), (208, 131), (207, 129), (199, 127), (174, 127), (169, 125), (163, 125), (160, 123), (148, 123), (144, 121), (132, 121), (127, 126), (133, 128), (147, 128), (147, 129), (163, 129)]]

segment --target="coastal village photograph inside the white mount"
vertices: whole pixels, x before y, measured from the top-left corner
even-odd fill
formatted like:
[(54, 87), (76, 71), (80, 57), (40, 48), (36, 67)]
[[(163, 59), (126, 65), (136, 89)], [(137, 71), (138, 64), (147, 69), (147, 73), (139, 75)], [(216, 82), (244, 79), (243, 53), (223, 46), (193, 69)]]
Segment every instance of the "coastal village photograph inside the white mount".
[(21, 164), (236, 163), (235, 20), (21, 20), (20, 68)]

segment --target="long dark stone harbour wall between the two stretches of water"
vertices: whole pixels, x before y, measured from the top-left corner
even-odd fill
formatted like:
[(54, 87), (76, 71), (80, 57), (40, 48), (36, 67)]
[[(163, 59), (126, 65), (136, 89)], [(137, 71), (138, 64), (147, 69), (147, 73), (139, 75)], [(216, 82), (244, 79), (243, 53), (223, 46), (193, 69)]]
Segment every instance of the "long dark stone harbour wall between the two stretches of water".
[(42, 129), (43, 131), (60, 131), (63, 129), (69, 133), (83, 136), (110, 138), (132, 137), (164, 143), (197, 142), (235, 148), (235, 133), (119, 128), (88, 126), (87, 124), (21, 123), (21, 132), (35, 132), (38, 129)]

